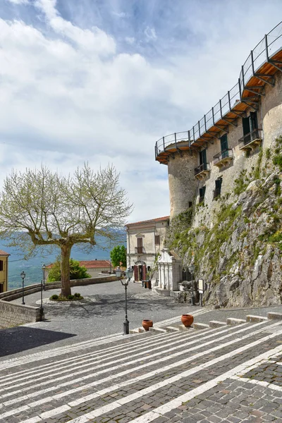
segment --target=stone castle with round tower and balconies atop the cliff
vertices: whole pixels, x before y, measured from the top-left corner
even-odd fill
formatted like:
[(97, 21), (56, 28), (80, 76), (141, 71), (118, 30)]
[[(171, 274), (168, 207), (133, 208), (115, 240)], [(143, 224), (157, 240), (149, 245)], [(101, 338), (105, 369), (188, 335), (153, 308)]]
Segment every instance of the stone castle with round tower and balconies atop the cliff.
[[(166, 135), (155, 158), (168, 166), (171, 218), (195, 204), (216, 208), (259, 147), (273, 147), (282, 125), (282, 23), (257, 44), (238, 82), (190, 129)], [(196, 216), (197, 220), (197, 216)]]

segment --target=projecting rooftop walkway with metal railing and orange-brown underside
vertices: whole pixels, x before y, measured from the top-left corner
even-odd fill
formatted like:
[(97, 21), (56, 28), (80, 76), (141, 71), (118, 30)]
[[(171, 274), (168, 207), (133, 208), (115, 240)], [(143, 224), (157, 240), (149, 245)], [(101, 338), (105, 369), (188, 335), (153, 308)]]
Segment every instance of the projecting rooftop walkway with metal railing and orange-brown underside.
[(246, 111), (257, 111), (264, 86), (274, 86), (274, 74), (282, 71), (282, 22), (252, 49), (243, 64), (238, 82), (190, 130), (161, 137), (155, 145), (155, 158), (168, 164), (169, 157), (183, 151), (213, 144), (229, 125), (236, 126)]

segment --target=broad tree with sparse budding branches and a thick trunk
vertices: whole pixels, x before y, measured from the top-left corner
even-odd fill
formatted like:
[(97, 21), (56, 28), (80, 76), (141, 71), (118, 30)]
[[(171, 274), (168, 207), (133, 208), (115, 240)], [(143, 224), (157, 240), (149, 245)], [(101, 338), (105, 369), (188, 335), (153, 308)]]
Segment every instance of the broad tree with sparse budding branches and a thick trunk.
[(73, 245), (89, 249), (96, 244), (96, 235), (104, 247), (105, 240), (120, 239), (132, 205), (118, 180), (114, 166), (95, 173), (84, 164), (66, 177), (45, 166), (12, 171), (0, 194), (0, 236), (10, 238), (9, 245), (20, 247), (25, 258), (40, 247), (59, 247), (61, 295), (68, 297)]

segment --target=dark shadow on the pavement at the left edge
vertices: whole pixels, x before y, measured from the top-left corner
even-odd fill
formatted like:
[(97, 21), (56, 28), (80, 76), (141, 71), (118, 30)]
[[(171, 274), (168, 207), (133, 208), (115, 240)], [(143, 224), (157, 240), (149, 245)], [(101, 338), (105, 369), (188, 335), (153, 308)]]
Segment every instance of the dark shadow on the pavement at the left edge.
[(72, 338), (73, 333), (61, 333), (35, 329), (29, 327), (16, 327), (0, 330), (0, 357), (16, 354), (31, 348), (46, 345), (62, 339)]

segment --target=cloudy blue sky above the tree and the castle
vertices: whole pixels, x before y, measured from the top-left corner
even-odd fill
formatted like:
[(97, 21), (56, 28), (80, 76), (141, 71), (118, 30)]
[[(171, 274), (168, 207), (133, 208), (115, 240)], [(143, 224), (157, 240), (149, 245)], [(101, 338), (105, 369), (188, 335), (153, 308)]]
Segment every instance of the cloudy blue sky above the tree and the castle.
[(281, 0), (0, 0), (0, 188), (12, 169), (114, 164), (128, 223), (168, 215), (155, 142), (197, 123), (281, 17)]

